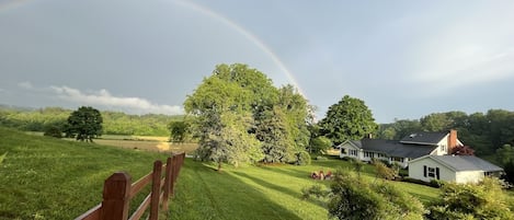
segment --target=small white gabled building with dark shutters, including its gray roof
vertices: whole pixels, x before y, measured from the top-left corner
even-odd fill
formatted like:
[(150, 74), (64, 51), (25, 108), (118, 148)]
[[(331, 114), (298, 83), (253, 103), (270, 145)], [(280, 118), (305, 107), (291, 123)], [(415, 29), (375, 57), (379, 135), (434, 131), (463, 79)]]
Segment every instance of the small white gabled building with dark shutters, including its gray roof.
[(477, 183), (503, 169), (475, 155), (424, 155), (409, 162), (409, 177), (430, 182)]

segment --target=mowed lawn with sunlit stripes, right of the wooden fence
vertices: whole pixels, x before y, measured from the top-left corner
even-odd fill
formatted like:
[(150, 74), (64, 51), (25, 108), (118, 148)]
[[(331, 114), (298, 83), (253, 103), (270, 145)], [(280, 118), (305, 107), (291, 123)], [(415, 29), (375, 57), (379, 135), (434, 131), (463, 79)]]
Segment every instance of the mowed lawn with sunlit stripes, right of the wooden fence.
[[(346, 161), (313, 161), (312, 165), (273, 165), (225, 167), (221, 173), (209, 163), (186, 160), (181, 171), (175, 197), (171, 201), (170, 219), (328, 219), (324, 204), (302, 199), (301, 189), (330, 181), (309, 177), (313, 171), (335, 171), (351, 167)], [(365, 165), (364, 178), (376, 180), (374, 169)], [(390, 182), (422, 202), (432, 201), (437, 188), (410, 183)]]

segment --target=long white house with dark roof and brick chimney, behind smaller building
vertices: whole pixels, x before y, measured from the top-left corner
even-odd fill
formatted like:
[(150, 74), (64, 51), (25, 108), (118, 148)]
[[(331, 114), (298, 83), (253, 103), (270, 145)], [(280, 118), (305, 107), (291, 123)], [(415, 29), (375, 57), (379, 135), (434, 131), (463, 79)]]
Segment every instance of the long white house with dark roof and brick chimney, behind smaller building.
[(402, 167), (409, 161), (423, 155), (444, 155), (452, 152), (452, 148), (462, 146), (457, 139), (457, 131), (447, 132), (413, 132), (401, 140), (381, 140), (365, 138), (349, 140), (339, 146), (340, 158), (354, 158), (369, 162), (372, 159), (398, 163)]

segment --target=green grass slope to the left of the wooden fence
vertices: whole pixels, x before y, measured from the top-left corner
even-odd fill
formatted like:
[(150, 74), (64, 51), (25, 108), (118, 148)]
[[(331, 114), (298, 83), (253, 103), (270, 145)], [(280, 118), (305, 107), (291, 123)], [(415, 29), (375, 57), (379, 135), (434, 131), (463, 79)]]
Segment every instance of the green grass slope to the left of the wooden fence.
[(102, 200), (103, 182), (133, 181), (165, 154), (37, 137), (0, 127), (0, 219), (73, 219)]

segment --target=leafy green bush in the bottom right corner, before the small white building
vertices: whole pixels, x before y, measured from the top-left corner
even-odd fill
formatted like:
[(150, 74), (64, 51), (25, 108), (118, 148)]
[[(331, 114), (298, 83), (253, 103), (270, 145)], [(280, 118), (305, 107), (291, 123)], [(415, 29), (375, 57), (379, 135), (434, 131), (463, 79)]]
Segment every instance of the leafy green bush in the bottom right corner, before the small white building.
[(429, 210), (429, 219), (514, 219), (498, 178), (478, 185), (445, 184)]

